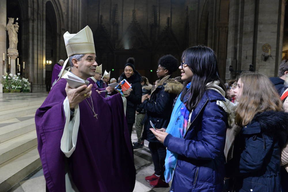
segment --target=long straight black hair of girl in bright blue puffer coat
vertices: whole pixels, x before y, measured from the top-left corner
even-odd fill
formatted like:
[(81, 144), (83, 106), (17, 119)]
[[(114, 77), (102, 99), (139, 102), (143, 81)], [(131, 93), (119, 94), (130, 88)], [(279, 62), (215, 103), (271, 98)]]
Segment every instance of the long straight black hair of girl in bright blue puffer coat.
[(184, 87), (181, 94), (181, 101), (186, 103), (189, 111), (199, 104), (207, 83), (220, 81), (219, 86), (226, 92), (226, 87), (219, 77), (216, 54), (211, 48), (203, 45), (190, 47), (183, 51), (181, 61), (193, 72), (190, 88)]

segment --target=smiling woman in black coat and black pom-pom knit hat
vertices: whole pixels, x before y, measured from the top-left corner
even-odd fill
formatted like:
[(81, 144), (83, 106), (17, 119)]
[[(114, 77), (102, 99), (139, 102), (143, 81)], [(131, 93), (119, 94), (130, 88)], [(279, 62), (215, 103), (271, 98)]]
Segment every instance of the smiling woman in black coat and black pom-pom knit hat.
[[(126, 105), (126, 120), (128, 124), (129, 135), (131, 138), (133, 124), (135, 122), (135, 113), (138, 104), (141, 104), (141, 97), (142, 97), (142, 85), (141, 80), (142, 77), (135, 70), (134, 67), (134, 58), (130, 57), (127, 59), (124, 72), (119, 77), (119, 82), (123, 79), (126, 79), (132, 86), (132, 91), (127, 99)], [(132, 145), (132, 143), (131, 143)]]

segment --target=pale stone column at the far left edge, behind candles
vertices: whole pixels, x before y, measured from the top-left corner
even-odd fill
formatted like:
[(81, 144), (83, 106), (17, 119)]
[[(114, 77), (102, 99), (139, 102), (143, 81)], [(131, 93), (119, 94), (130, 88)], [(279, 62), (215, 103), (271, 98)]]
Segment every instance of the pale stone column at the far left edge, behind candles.
[[(6, 1), (0, 1), (0, 13), (2, 17), (0, 17), (0, 78), (2, 78), (2, 75), (6, 72), (6, 64), (4, 62), (3, 65), (3, 59), (2, 55), (3, 53), (6, 56)], [(0, 93), (2, 93), (2, 84), (0, 83)]]

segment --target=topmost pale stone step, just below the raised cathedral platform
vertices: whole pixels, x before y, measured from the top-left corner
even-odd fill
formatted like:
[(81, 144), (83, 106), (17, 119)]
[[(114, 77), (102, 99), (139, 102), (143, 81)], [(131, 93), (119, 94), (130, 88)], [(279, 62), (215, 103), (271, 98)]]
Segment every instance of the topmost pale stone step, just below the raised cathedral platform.
[(35, 113), (40, 106), (41, 104), (37, 104), (28, 107), (0, 111), (0, 121)]

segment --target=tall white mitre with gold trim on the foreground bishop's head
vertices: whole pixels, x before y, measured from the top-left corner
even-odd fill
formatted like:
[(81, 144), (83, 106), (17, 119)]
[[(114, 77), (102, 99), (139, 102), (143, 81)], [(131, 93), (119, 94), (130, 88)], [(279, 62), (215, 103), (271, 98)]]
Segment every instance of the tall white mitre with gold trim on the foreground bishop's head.
[(96, 54), (93, 33), (88, 25), (76, 34), (70, 34), (67, 31), (66, 33), (64, 33), (63, 37), (68, 58), (63, 64), (59, 79), (62, 77), (62, 73), (66, 67), (70, 56), (88, 53)]

